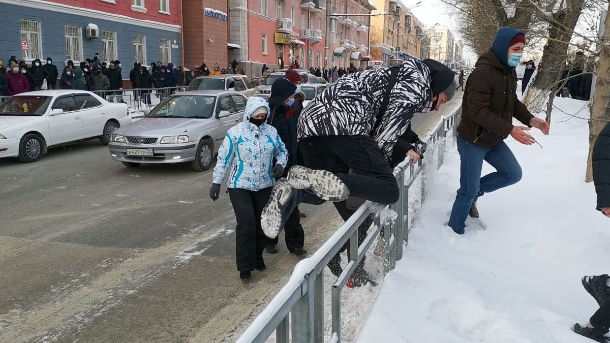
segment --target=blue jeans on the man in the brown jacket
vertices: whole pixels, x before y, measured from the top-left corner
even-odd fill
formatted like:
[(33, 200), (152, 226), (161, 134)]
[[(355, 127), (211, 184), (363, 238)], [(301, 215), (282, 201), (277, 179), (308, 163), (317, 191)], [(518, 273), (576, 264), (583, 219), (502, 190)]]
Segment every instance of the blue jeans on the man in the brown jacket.
[[(522, 171), (511, 149), (504, 142), (493, 148), (481, 148), (458, 135), (458, 152), (461, 162), (460, 187), (451, 209), (449, 226), (456, 233), (463, 234), (470, 206), (475, 199), (484, 193), (519, 182)], [(481, 178), (483, 161), (489, 163), (497, 171)]]

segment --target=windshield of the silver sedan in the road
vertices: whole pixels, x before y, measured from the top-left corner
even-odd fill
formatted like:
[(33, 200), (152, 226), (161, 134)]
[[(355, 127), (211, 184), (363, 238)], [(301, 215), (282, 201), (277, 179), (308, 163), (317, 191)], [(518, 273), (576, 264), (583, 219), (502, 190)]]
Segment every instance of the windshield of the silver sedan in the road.
[(215, 96), (174, 95), (163, 100), (146, 117), (152, 118), (211, 118)]

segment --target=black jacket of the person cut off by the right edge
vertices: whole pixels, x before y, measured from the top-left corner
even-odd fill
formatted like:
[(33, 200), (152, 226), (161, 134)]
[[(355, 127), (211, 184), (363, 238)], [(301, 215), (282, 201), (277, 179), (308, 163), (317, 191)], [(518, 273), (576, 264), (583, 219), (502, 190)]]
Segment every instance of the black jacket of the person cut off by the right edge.
[(606, 124), (595, 141), (592, 161), (597, 209), (610, 208), (610, 123)]

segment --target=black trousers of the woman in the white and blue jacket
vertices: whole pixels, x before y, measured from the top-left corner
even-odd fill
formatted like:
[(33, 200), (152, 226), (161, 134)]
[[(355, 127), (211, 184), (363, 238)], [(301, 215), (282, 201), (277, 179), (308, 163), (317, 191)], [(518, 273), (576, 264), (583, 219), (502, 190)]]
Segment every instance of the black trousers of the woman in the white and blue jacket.
[(265, 234), (260, 227), (260, 214), (271, 197), (271, 187), (258, 191), (229, 188), (235, 211), (235, 259), (237, 270), (251, 272), (255, 262), (263, 262)]

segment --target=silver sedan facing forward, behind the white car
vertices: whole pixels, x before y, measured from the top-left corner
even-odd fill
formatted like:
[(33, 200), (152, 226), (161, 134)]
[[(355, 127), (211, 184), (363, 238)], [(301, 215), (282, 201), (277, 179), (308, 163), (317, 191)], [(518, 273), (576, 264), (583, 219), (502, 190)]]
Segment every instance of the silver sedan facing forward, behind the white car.
[(210, 168), (224, 136), (243, 120), (246, 97), (223, 90), (176, 93), (146, 116), (112, 132), (110, 156), (127, 167), (191, 162)]

